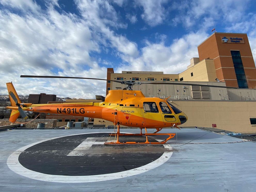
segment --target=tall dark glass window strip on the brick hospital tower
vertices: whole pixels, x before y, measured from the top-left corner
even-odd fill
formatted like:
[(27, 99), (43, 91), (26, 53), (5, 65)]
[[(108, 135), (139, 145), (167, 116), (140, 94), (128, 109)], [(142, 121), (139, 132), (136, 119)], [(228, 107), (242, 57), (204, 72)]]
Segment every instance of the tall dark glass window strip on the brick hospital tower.
[(248, 89), (240, 51), (231, 51), (231, 56), (235, 68), (238, 87), (242, 89)]

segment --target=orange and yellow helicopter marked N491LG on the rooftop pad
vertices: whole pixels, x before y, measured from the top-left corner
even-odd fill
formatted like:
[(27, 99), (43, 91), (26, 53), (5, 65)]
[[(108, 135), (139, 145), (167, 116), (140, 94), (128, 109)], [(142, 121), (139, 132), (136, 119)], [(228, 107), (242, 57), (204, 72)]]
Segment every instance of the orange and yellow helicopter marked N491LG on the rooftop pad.
[[(168, 101), (168, 98), (158, 97), (145, 97), (141, 91), (132, 90), (133, 85), (141, 84), (165, 84), (165, 85), (199, 85), (190, 83), (175, 83), (175, 82), (136, 82), (136, 81), (116, 81), (109, 79), (99, 78), (86, 78), (86, 77), (62, 77), (62, 76), (34, 76), (34, 75), (21, 75), (20, 77), (27, 78), (74, 78), (74, 79), (94, 79), (102, 81), (112, 81), (126, 85), (123, 90), (110, 90), (106, 97), (96, 95), (97, 100), (102, 102), (73, 102), (73, 103), (53, 103), (53, 104), (33, 104), (21, 103), (17, 92), (12, 83), (6, 83), (9, 98), (11, 102), (11, 116), (9, 121), (14, 123), (19, 115), (26, 119), (28, 116), (24, 111), (33, 111), (40, 113), (52, 114), (65, 114), (71, 116), (81, 116), (89, 118), (101, 118), (113, 122), (114, 127), (117, 126), (115, 133), (116, 141), (105, 142), (105, 145), (161, 145), (166, 143), (169, 139), (175, 136), (175, 133), (158, 133), (164, 127), (175, 127), (185, 123), (188, 117), (181, 110), (176, 108)], [(226, 87), (216, 85), (203, 85), (208, 87)], [(120, 125), (140, 128), (140, 133), (120, 133)], [(142, 133), (145, 129), (145, 133)], [(156, 129), (154, 133), (148, 133), (147, 129)], [(167, 135), (163, 141), (150, 142), (148, 136), (152, 135)], [(120, 142), (120, 136), (145, 136), (145, 142), (126, 141)]]

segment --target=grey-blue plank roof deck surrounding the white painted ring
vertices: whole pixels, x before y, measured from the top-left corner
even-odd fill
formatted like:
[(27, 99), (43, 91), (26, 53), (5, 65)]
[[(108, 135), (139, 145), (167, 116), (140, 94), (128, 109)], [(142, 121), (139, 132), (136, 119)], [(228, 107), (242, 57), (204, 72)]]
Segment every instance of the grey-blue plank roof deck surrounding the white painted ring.
[[(7, 158), (12, 153), (31, 143), (73, 134), (111, 131), (0, 132), (0, 191), (256, 191), (256, 143), (199, 129), (177, 130), (177, 140), (174, 137), (165, 144), (173, 148), (173, 154), (165, 163), (146, 172), (114, 180), (48, 182), (24, 177), (7, 166)], [(122, 131), (139, 132), (138, 129)], [(148, 132), (153, 131), (148, 129)], [(163, 129), (161, 132), (175, 133), (175, 129)], [(163, 138), (165, 136), (157, 136), (157, 139)]]

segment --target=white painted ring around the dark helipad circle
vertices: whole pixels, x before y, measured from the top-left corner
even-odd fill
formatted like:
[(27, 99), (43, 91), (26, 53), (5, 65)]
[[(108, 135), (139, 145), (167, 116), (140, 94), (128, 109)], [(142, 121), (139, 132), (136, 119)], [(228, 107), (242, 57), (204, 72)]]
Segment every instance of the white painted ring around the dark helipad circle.
[[(68, 136), (74, 136), (74, 135), (83, 135), (83, 134), (94, 134), (94, 133), (111, 133), (111, 132), (92, 132), (92, 133), (80, 133), (80, 134), (72, 134), (72, 135), (65, 135), (61, 137), (68, 137)], [(30, 179), (36, 179), (41, 181), (49, 181), (49, 182), (59, 182), (59, 183), (85, 183), (85, 182), (97, 182), (97, 181), (107, 181), (107, 180), (113, 180), (113, 179), (120, 179), (124, 177), (129, 177), (137, 174), (141, 174), (144, 172), (147, 172), (149, 170), (155, 169), (156, 167), (164, 164), (170, 157), (172, 156), (172, 151), (170, 152), (164, 152), (161, 157), (156, 159), (155, 161), (148, 163), (147, 165), (143, 165), (141, 167), (137, 167), (135, 169), (117, 172), (117, 173), (108, 173), (108, 174), (100, 174), (100, 175), (83, 175), (83, 176), (67, 176), (67, 175), (50, 175), (50, 174), (44, 174), (39, 173), (36, 171), (29, 170), (25, 167), (23, 167), (19, 162), (19, 155), (26, 150), (27, 148), (34, 146), (38, 143), (42, 143), (45, 141), (49, 141), (52, 139), (58, 139), (61, 137), (55, 137), (50, 139), (45, 139), (42, 141), (38, 141), (35, 143), (31, 143), (27, 146), (21, 147), (20, 149), (14, 151), (7, 159), (7, 165), (8, 167), (15, 173), (22, 175), (24, 177), (30, 178)], [(164, 147), (168, 147), (168, 149), (172, 149), (171, 146), (167, 145)]]

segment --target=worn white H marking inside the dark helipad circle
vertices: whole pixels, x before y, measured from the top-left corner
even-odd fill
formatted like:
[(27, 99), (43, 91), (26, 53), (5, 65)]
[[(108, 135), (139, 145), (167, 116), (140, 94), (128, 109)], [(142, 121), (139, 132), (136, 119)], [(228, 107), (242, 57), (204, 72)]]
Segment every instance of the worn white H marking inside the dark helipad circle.
[(85, 151), (90, 149), (92, 145), (104, 145), (104, 141), (96, 142), (96, 137), (86, 138), (80, 145), (78, 145), (73, 151), (71, 151), (67, 156), (83, 156)]

